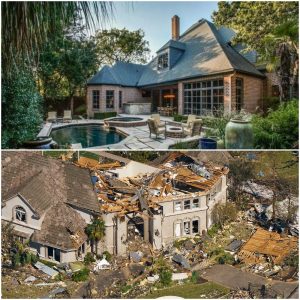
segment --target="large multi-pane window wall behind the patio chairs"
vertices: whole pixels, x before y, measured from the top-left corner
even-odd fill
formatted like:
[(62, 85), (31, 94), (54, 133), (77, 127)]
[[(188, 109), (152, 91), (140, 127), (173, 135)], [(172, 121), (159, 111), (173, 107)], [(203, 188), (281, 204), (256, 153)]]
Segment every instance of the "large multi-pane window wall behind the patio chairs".
[(223, 108), (223, 79), (184, 84), (184, 114), (211, 115)]

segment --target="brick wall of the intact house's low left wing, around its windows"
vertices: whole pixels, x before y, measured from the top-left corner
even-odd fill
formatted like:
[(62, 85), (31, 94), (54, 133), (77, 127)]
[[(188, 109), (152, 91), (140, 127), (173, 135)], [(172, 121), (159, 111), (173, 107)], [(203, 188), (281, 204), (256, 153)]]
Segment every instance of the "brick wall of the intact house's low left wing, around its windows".
[[(93, 109), (93, 91), (100, 91), (99, 109)], [(114, 108), (106, 108), (106, 91), (114, 91), (115, 101)], [(93, 118), (97, 112), (115, 111), (122, 113), (119, 108), (119, 91), (122, 91), (122, 103), (127, 102), (151, 102), (150, 98), (142, 97), (142, 91), (133, 87), (121, 87), (116, 85), (89, 85), (87, 87), (87, 114), (89, 118)]]

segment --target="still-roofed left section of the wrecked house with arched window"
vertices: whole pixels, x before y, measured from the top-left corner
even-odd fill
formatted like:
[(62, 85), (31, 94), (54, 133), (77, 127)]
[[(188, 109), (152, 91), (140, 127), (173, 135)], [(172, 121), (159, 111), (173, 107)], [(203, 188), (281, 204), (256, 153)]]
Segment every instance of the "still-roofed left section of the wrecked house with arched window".
[(88, 170), (40, 152), (2, 153), (2, 222), (41, 258), (83, 258), (90, 252), (85, 227), (99, 213)]

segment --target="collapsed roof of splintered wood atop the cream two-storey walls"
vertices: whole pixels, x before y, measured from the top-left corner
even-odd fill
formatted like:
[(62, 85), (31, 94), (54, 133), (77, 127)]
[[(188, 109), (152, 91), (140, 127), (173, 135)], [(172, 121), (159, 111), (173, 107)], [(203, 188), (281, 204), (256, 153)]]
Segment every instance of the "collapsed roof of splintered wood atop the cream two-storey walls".
[(228, 171), (227, 167), (197, 163), (186, 154), (173, 152), (154, 172), (143, 173), (141, 169), (136, 176), (120, 179), (99, 169), (93, 176), (102, 212), (124, 217), (131, 212), (159, 210), (161, 202), (185, 198), (188, 194), (207, 195)]

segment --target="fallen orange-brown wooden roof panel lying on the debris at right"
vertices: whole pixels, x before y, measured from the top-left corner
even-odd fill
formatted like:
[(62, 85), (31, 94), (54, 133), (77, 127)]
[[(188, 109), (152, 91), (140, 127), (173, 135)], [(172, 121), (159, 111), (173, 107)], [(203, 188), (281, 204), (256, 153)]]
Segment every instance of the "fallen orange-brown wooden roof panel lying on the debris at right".
[(279, 264), (297, 245), (296, 237), (282, 237), (276, 232), (258, 228), (238, 256), (246, 263), (264, 263), (267, 257), (271, 257), (275, 264)]

